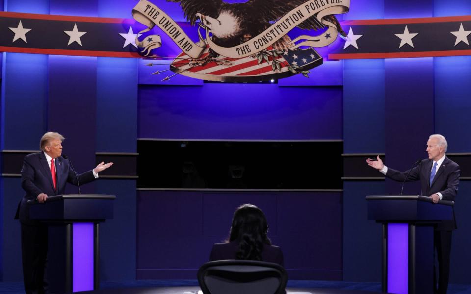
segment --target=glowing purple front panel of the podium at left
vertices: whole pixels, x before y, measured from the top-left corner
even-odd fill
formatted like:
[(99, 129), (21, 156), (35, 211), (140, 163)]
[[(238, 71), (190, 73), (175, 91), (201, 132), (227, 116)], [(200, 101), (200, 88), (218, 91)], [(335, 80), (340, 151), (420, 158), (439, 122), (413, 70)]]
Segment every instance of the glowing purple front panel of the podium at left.
[(72, 232), (72, 292), (93, 290), (93, 223), (74, 223)]

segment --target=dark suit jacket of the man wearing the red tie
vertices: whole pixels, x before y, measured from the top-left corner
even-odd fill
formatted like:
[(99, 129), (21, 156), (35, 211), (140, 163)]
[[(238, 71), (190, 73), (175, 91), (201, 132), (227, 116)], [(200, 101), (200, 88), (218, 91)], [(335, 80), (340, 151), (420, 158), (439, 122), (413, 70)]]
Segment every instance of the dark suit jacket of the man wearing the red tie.
[[(66, 183), (78, 185), (74, 171), (69, 165), (69, 161), (63, 157), (55, 160), (56, 166), (56, 189), (52, 183), (50, 163), (46, 161), (43, 152), (33, 153), (25, 156), (23, 167), (21, 168), (21, 187), (26, 191), (26, 195), (18, 204), (15, 219), (20, 219), (24, 224), (37, 224), (35, 220), (29, 220), (28, 200), (45, 193), (47, 196), (61, 195), (65, 193)], [(78, 174), (80, 184), (85, 184), (95, 180), (93, 172), (90, 170)]]

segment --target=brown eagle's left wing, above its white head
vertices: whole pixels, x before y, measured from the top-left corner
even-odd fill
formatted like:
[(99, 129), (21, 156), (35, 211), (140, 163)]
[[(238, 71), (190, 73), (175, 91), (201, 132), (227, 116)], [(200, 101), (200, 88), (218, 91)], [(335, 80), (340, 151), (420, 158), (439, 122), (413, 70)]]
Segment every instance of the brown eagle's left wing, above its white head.
[(223, 3), (222, 0), (167, 0), (167, 2), (179, 2), (184, 16), (191, 25), (194, 25), (198, 19), (197, 13), (217, 18)]

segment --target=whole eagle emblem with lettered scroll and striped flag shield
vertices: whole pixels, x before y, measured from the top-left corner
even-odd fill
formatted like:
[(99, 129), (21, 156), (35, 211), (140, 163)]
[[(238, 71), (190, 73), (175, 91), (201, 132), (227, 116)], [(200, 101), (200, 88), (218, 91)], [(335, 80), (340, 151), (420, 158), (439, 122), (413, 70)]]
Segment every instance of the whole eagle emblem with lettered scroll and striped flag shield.
[[(140, 33), (157, 25), (182, 49), (170, 64), (175, 73), (172, 76), (234, 82), (266, 81), (294, 74), (308, 77), (310, 69), (322, 64), (314, 48), (331, 44), (339, 34), (346, 36), (335, 14), (346, 13), (349, 0), (167, 1), (177, 2), (186, 20), (196, 27), (197, 43), (147, 0), (139, 1), (133, 16), (148, 27)], [(304, 34), (292, 38), (291, 33), (290, 37), (288, 33), (295, 28)], [(146, 38), (139, 41), (136, 37), (136, 44), (148, 58), (158, 59), (150, 52), (161, 46), (160, 38)]]

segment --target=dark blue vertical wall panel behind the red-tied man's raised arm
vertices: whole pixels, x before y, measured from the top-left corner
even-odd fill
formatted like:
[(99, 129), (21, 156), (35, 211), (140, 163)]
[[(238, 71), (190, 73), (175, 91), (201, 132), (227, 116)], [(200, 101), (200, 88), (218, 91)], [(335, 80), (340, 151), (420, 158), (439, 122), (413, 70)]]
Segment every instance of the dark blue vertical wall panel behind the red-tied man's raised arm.
[[(48, 68), (47, 129), (64, 134), (62, 153), (77, 171), (88, 171), (95, 166), (96, 136), (90, 130), (96, 128), (97, 57), (50, 55)], [(82, 192), (94, 193), (93, 186), (84, 185)]]

